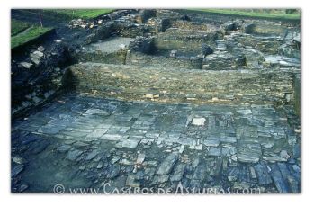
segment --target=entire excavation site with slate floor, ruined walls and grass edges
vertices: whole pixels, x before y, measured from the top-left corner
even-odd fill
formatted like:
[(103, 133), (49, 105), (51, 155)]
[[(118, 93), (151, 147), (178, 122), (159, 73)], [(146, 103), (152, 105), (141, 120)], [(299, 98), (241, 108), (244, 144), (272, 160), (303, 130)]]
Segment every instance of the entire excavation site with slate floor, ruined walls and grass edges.
[(301, 11), (220, 11), (13, 9), (12, 193), (301, 193)]

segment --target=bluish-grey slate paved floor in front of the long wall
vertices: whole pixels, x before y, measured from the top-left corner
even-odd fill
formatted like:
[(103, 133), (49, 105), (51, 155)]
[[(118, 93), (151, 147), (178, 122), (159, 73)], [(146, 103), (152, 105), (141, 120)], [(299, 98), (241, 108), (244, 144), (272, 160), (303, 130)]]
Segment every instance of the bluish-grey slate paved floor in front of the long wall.
[(152, 187), (298, 193), (292, 106), (121, 102), (65, 94), (13, 121), (14, 192)]

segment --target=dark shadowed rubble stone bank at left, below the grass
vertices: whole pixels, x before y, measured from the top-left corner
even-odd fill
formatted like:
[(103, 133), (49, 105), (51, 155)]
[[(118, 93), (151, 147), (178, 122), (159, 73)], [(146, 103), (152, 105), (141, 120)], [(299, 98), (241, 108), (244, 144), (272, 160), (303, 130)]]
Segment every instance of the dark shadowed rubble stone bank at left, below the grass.
[(71, 64), (67, 48), (40, 46), (31, 50), (23, 62), (12, 61), (11, 104), (13, 117), (45, 103), (60, 92), (64, 67)]

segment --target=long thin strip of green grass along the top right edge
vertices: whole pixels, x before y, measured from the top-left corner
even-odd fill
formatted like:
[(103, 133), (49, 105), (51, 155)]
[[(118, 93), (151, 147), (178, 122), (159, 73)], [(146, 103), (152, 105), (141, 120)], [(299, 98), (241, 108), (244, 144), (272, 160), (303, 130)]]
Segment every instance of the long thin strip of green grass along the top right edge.
[[(285, 14), (284, 10), (258, 10), (258, 9), (190, 9), (211, 14), (227, 14), (267, 19), (300, 20), (301, 14)], [(267, 12), (268, 11), (268, 12)]]

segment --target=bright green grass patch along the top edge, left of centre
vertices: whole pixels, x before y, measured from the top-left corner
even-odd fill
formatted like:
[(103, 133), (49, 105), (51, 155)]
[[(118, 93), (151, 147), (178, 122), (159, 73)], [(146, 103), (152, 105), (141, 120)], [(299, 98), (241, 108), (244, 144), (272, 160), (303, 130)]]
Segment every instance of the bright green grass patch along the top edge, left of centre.
[(68, 18), (91, 19), (102, 14), (108, 14), (114, 9), (46, 9), (44, 11), (64, 15)]

